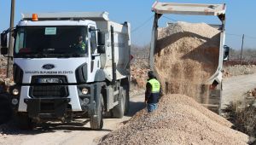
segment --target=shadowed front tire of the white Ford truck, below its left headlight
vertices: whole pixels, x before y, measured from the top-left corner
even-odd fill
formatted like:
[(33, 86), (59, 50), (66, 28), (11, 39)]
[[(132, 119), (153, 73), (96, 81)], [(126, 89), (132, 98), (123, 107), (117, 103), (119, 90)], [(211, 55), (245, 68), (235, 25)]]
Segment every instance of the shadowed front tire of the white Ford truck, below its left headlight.
[(34, 127), (32, 119), (28, 117), (27, 113), (15, 113), (15, 124), (21, 130), (32, 130)]

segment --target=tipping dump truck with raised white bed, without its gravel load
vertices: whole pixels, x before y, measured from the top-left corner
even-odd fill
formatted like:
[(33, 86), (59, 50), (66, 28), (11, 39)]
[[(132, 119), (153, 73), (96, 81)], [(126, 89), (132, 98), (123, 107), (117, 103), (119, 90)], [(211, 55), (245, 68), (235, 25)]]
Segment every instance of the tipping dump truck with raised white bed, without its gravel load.
[[(224, 40), (225, 40), (225, 4), (191, 4), (191, 3), (161, 3), (155, 2), (152, 6), (152, 11), (154, 12), (154, 26), (151, 37), (151, 46), (150, 46), (150, 59), (149, 64), (151, 70), (155, 70), (155, 60), (154, 56), (156, 55), (156, 49), (159, 48), (158, 40), (158, 31), (159, 31), (159, 20), (161, 17), (165, 17), (164, 14), (183, 14), (183, 15), (209, 15), (217, 16), (221, 21), (221, 24), (209, 24), (215, 29), (220, 31), (218, 35), (219, 47), (218, 47), (218, 62), (214, 66), (215, 73), (210, 78), (205, 80), (204, 84), (201, 84), (204, 87), (211, 88), (208, 92), (209, 100), (207, 103), (202, 104), (216, 113), (220, 113), (221, 106), (221, 92), (222, 92), (222, 67), (223, 61), (227, 60), (228, 52), (224, 53)], [(170, 17), (167, 17), (170, 20)], [(171, 18), (172, 19), (172, 18)], [(168, 22), (167, 22), (168, 23)], [(186, 34), (184, 34), (186, 35)], [(172, 39), (172, 36), (170, 36)], [(174, 41), (174, 40), (173, 40)], [(172, 85), (172, 84), (171, 84)]]

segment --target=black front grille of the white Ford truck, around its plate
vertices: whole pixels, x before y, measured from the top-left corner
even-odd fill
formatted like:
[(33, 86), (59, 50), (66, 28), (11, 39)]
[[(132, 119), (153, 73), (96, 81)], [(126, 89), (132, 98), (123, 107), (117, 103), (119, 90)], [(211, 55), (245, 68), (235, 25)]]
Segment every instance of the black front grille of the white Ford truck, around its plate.
[(40, 78), (58, 78), (63, 84), (67, 83), (66, 76), (33, 76), (32, 85), (30, 87), (30, 96), (32, 98), (51, 98), (51, 97), (67, 97), (68, 86), (60, 84), (40, 84)]

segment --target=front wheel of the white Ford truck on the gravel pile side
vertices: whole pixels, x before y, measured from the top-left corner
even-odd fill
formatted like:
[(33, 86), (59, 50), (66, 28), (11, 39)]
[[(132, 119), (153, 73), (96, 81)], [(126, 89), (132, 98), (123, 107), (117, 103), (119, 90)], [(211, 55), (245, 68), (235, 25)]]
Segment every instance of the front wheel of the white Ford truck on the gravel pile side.
[(103, 127), (103, 97), (102, 94), (99, 99), (98, 105), (96, 105), (96, 110), (94, 113), (90, 114), (90, 128), (92, 130), (102, 130)]

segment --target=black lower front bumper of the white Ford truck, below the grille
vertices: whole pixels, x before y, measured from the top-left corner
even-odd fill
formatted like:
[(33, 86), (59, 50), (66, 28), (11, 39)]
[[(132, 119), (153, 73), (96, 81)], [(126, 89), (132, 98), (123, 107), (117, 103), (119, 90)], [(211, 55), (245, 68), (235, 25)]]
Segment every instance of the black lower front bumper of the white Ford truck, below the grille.
[(69, 98), (25, 99), (26, 111), (32, 119), (61, 119), (67, 114)]

